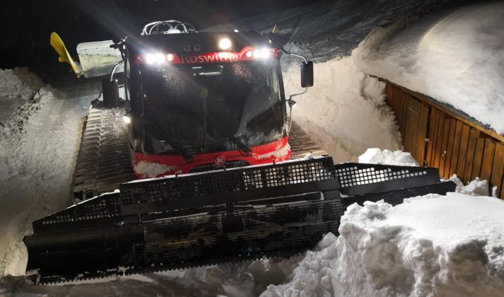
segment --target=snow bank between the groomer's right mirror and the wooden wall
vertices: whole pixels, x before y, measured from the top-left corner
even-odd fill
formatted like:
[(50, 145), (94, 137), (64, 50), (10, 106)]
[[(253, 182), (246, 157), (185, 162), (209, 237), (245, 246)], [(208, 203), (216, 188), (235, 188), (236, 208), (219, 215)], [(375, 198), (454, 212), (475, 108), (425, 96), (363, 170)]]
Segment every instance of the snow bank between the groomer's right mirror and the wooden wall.
[[(292, 47), (292, 46), (291, 46)], [(299, 66), (283, 73), (286, 95), (300, 91)], [(358, 71), (353, 57), (315, 64), (315, 85), (294, 100), (293, 120), (336, 162), (356, 161), (366, 148), (402, 148), (385, 83)]]

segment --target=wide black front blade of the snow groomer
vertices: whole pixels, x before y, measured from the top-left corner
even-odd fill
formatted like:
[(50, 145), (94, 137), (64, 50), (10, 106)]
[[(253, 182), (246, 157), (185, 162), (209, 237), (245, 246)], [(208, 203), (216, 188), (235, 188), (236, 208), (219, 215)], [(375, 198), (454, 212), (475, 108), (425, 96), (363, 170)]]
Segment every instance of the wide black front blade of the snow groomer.
[(346, 206), (446, 194), (438, 170), (332, 158), (138, 180), (33, 223), (38, 283), (289, 257), (337, 234)]

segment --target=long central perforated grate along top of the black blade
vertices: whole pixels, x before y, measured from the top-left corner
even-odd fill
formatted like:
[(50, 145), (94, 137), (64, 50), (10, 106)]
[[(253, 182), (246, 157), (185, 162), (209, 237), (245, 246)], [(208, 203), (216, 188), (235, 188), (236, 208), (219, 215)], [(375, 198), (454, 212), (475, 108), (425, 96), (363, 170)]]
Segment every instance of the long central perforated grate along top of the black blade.
[(141, 214), (338, 188), (332, 158), (317, 158), (129, 182), (121, 185), (121, 205), (123, 215)]

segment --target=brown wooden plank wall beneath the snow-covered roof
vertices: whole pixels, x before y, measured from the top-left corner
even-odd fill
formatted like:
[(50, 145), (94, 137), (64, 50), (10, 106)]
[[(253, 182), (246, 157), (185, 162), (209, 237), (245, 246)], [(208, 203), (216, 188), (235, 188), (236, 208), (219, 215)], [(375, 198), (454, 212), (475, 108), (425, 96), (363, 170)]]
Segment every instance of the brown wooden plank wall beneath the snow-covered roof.
[(464, 183), (488, 180), (504, 199), (504, 136), (388, 81), (387, 104), (396, 115), (404, 150), (419, 164), (439, 168), (445, 178), (456, 173)]

